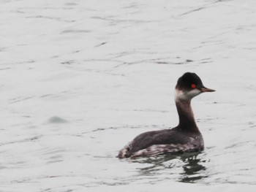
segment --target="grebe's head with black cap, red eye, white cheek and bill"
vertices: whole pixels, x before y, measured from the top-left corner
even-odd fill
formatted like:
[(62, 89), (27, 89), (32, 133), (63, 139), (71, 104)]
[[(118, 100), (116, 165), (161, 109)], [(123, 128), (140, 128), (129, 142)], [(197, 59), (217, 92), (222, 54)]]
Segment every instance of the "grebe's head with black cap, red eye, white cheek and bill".
[(200, 77), (195, 73), (187, 72), (178, 78), (176, 85), (177, 96), (183, 99), (192, 99), (203, 92), (213, 92), (213, 89), (206, 88)]

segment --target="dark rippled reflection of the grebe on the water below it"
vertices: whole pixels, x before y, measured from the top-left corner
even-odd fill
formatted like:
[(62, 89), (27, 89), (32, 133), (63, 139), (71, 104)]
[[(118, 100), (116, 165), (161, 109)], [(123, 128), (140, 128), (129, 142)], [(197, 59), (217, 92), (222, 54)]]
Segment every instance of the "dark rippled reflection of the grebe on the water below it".
[[(157, 158), (138, 158), (132, 161), (150, 164), (150, 166), (140, 169), (140, 174), (144, 176), (175, 174), (177, 178), (178, 174), (178, 182), (197, 183), (197, 181), (207, 177), (206, 172), (204, 172), (206, 171), (204, 165), (207, 161), (205, 155), (205, 153), (183, 153), (181, 155), (161, 155)], [(172, 177), (166, 178), (171, 179)]]

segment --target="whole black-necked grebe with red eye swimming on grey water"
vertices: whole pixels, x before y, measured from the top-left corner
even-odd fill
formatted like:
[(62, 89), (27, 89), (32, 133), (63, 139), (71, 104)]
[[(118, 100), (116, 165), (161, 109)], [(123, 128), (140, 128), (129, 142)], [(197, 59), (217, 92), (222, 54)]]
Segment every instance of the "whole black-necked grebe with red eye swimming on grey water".
[(182, 75), (178, 79), (175, 96), (179, 118), (178, 126), (139, 134), (119, 151), (117, 157), (148, 157), (165, 153), (203, 150), (203, 137), (195, 123), (190, 102), (193, 97), (200, 93), (213, 91), (213, 89), (206, 88), (203, 85), (197, 74), (187, 72)]

